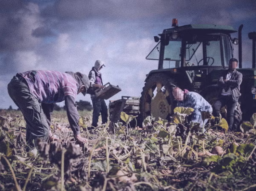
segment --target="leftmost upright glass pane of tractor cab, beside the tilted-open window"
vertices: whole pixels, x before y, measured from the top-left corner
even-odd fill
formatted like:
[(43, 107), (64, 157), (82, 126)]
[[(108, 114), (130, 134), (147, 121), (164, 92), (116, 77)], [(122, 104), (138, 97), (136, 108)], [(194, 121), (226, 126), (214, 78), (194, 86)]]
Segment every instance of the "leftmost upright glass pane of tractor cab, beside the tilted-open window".
[(181, 41), (170, 41), (164, 49), (163, 68), (179, 68), (181, 62)]

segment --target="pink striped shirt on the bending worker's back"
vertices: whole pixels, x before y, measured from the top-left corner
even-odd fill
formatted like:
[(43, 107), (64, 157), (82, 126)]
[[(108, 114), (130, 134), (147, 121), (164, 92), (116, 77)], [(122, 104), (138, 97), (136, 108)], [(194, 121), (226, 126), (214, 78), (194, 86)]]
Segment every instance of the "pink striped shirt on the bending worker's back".
[(78, 93), (78, 83), (68, 73), (31, 70), (19, 74), (25, 78), (30, 92), (38, 98), (39, 103), (62, 102), (65, 96), (71, 95), (76, 98)]

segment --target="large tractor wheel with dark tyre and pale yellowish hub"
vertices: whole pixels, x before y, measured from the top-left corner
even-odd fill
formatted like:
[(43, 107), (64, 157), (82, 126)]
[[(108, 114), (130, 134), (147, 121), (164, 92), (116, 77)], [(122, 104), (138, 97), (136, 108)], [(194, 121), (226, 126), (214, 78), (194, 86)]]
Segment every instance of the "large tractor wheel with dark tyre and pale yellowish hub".
[(170, 118), (174, 109), (173, 86), (173, 80), (164, 74), (154, 74), (147, 79), (140, 97), (142, 120), (147, 116), (152, 116), (155, 120)]

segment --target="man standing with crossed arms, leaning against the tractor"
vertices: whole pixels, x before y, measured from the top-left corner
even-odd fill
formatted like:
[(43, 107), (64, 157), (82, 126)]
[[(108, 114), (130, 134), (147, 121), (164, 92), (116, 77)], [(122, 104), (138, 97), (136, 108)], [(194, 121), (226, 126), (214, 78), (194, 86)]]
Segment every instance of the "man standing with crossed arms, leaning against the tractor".
[(229, 69), (224, 71), (218, 79), (218, 86), (221, 92), (217, 101), (213, 104), (213, 115), (218, 117), (220, 109), (227, 106), (227, 122), (229, 124), (229, 131), (233, 130), (234, 111), (240, 97), (240, 84), (242, 83), (243, 75), (236, 70), (238, 61), (236, 58), (229, 60)]

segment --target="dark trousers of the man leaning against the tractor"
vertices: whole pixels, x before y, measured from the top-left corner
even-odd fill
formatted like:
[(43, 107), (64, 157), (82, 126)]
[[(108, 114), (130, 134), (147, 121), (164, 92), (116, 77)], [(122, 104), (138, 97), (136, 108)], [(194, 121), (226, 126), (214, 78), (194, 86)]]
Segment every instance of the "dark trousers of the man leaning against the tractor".
[(213, 115), (218, 117), (220, 115), (221, 107), (227, 106), (227, 122), (229, 130), (232, 130), (234, 122), (234, 111), (237, 106), (238, 98), (233, 99), (232, 95), (220, 95), (217, 101), (213, 104)]

